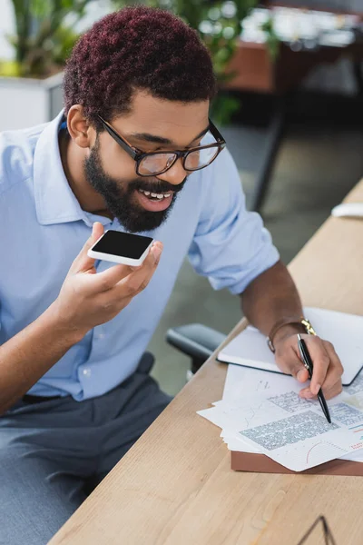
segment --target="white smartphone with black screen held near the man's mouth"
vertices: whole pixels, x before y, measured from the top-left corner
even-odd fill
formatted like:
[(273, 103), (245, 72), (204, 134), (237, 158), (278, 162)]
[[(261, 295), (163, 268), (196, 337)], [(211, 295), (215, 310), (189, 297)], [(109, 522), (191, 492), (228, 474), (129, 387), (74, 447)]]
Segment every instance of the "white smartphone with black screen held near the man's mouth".
[(153, 239), (149, 236), (120, 233), (110, 229), (93, 244), (88, 255), (93, 259), (137, 267), (149, 253), (152, 242)]

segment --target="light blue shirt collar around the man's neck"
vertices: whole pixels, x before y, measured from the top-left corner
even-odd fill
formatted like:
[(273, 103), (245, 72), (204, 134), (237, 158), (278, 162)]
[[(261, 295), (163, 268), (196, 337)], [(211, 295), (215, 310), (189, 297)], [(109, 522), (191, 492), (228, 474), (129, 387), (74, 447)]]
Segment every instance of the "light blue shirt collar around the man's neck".
[(36, 216), (42, 225), (83, 220), (88, 226), (92, 226), (93, 214), (82, 210), (64, 174), (58, 144), (59, 128), (63, 121), (64, 111), (45, 126), (35, 146), (34, 199)]

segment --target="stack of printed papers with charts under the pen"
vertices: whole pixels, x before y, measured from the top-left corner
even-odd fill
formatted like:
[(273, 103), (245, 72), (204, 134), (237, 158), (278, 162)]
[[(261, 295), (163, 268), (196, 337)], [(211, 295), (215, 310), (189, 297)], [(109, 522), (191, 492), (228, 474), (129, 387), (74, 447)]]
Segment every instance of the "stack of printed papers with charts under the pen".
[(229, 365), (223, 399), (199, 411), (221, 428), (231, 451), (263, 453), (292, 471), (343, 458), (363, 461), (363, 374), (328, 401), (299, 397), (292, 377)]

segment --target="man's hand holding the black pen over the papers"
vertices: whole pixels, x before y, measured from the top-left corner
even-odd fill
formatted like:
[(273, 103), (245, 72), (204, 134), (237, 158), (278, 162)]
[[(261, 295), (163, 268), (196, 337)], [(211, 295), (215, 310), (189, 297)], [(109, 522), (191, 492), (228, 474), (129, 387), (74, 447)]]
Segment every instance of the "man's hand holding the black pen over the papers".
[[(306, 399), (316, 397), (320, 387), (327, 400), (341, 391), (341, 375), (343, 366), (331, 342), (323, 341), (314, 335), (301, 334), (307, 344), (314, 371), (307, 388), (300, 391)], [(282, 372), (294, 376), (299, 382), (309, 380), (309, 372), (305, 369), (299, 356), (297, 333), (281, 336), (274, 342), (276, 363)]]

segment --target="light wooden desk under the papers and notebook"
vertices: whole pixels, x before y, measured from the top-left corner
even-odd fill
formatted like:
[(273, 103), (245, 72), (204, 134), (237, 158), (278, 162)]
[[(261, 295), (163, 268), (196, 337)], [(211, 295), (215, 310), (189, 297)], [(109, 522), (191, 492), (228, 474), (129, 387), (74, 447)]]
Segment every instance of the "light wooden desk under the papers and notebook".
[[(363, 220), (329, 219), (290, 270), (305, 304), (362, 314)], [(225, 374), (211, 358), (50, 544), (295, 545), (324, 514), (337, 545), (361, 545), (363, 479), (231, 471), (220, 429), (195, 414)]]

